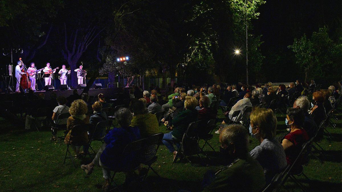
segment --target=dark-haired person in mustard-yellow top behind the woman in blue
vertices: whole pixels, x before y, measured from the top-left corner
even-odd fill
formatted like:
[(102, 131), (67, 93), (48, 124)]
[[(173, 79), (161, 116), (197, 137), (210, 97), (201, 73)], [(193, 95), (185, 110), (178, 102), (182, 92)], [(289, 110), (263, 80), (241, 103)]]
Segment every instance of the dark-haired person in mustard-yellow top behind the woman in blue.
[(133, 112), (131, 127), (138, 127), (142, 138), (159, 133), (158, 120), (155, 114), (148, 113), (143, 101), (133, 99), (130, 103)]

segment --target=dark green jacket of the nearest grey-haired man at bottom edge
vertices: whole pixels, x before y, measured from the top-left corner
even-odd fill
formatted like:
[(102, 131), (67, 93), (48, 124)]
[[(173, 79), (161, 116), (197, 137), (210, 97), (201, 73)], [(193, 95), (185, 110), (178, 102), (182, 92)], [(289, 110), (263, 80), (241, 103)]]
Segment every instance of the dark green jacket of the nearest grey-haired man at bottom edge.
[(204, 191), (261, 191), (265, 187), (264, 170), (249, 153), (246, 156), (217, 170)]

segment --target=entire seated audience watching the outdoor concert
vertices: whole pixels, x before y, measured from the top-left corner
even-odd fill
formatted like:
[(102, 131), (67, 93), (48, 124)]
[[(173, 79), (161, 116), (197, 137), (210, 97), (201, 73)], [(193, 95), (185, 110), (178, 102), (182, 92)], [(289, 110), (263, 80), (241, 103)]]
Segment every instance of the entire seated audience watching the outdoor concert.
[[(141, 161), (136, 159), (149, 160), (157, 149), (156, 146), (149, 146), (143, 149), (143, 155), (122, 155), (128, 143), (160, 133), (159, 124), (164, 123), (170, 132), (163, 135), (161, 142), (176, 162), (181, 157), (180, 145), (189, 124), (198, 120), (217, 121), (217, 111), (221, 106), (225, 118), (216, 133), (220, 134), (220, 153), (228, 166), (216, 172), (208, 171), (202, 189), (260, 191), (277, 173), (293, 164), (305, 142), (313, 137), (315, 140), (323, 138), (323, 129), (318, 129), (318, 126), (341, 95), (342, 86), (339, 83), (337, 87), (331, 85), (328, 89), (319, 89), (314, 81), (309, 86), (299, 80), (288, 86), (280, 84), (277, 88), (271, 82), (264, 84), (264, 87), (260, 83), (253, 86), (242, 83), (214, 84), (209, 87), (205, 84), (185, 88), (168, 85), (163, 94), (155, 87), (143, 91), (140, 86), (134, 86), (127, 91), (129, 106), (115, 112), (118, 127), (110, 130), (99, 128), (90, 133), (78, 130), (78, 134), (71, 134), (75, 125), (93, 124), (95, 127), (97, 123), (108, 120), (102, 109), (110, 107), (103, 94), (94, 100), (86, 93), (78, 95), (74, 91), (68, 98), (60, 96), (55, 99), (51, 119), (56, 124), (66, 125), (64, 143), (70, 145), (76, 157), (88, 154), (90, 146), (84, 145), (81, 150), (73, 143), (88, 142), (94, 135), (104, 140), (93, 161), (81, 165), (81, 168), (89, 175), (94, 166), (100, 166), (105, 179), (103, 189), (107, 189), (110, 170), (139, 165)], [(309, 94), (312, 94), (312, 102), (307, 97)], [(37, 99), (42, 102), (43, 95), (39, 94)], [(281, 108), (286, 109), (288, 130), (284, 136), (276, 138), (275, 110)], [(89, 111), (93, 112), (89, 114)], [(236, 111), (238, 115), (233, 115)], [(70, 116), (58, 119), (63, 113)], [(40, 119), (27, 114), (25, 128), (30, 129), (35, 121)], [(260, 143), (252, 151), (248, 151), (249, 137)], [(139, 167), (138, 175), (144, 170), (142, 165)], [(134, 174), (126, 172), (126, 181), (136, 178)]]

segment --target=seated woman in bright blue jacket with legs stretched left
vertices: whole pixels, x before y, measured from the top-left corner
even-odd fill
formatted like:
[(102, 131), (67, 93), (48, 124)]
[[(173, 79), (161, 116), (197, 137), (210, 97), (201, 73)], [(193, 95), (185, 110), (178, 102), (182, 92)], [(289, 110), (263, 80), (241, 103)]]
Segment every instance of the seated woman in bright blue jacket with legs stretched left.
[[(140, 131), (137, 127), (130, 127), (132, 113), (127, 108), (120, 108), (115, 112), (115, 117), (121, 127), (113, 128), (105, 137), (100, 150), (98, 150), (94, 160), (88, 165), (81, 165), (87, 175), (93, 172), (94, 165), (102, 167), (103, 178), (105, 183), (102, 189), (107, 189), (109, 185), (110, 170), (120, 170), (124, 167), (136, 166), (139, 162), (135, 162), (137, 155), (135, 153), (122, 156), (124, 148), (128, 143), (140, 139)], [(127, 177), (126, 177), (127, 179)]]

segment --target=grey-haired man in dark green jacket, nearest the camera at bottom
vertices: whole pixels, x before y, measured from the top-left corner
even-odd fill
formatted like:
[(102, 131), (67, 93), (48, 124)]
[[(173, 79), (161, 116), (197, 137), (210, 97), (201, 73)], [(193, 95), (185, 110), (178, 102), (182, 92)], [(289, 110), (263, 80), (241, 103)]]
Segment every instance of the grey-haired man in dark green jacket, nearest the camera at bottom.
[(242, 125), (228, 125), (220, 133), (220, 152), (228, 166), (209, 170), (202, 182), (204, 191), (260, 191), (264, 170), (248, 152), (249, 137)]

